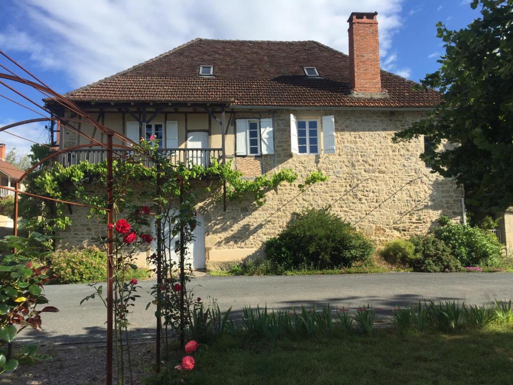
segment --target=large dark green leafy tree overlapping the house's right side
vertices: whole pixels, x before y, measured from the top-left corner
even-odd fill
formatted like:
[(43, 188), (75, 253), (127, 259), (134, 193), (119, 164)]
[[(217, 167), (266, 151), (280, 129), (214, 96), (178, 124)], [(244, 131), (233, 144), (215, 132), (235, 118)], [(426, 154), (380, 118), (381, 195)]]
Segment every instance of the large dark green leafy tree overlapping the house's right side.
[[(439, 89), (441, 103), (393, 141), (430, 137), (421, 159), (463, 185), (468, 209), (483, 216), (513, 205), (513, 0), (470, 6), (482, 17), (466, 28), (437, 24), (446, 52), (421, 83)], [(454, 148), (437, 152), (446, 142)]]

